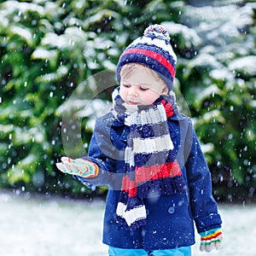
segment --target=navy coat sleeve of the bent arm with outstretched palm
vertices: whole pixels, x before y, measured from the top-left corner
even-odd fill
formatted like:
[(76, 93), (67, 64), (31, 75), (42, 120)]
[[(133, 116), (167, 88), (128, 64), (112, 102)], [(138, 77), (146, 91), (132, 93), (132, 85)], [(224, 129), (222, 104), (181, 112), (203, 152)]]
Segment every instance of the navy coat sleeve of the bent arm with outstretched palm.
[(109, 185), (111, 187), (113, 183), (117, 182), (114, 174), (116, 172), (116, 161), (119, 160), (120, 153), (112, 143), (111, 124), (112, 119), (109, 116), (96, 119), (88, 155), (82, 157), (84, 160), (90, 160), (99, 166), (100, 172), (98, 176), (87, 179), (75, 176), (90, 189), (101, 185)]

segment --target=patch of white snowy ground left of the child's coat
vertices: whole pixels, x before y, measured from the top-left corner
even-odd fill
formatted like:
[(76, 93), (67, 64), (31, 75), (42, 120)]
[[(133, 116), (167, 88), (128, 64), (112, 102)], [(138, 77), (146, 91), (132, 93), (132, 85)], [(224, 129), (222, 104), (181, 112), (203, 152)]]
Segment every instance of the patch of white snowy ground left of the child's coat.
[(106, 255), (104, 204), (0, 194), (1, 256)]

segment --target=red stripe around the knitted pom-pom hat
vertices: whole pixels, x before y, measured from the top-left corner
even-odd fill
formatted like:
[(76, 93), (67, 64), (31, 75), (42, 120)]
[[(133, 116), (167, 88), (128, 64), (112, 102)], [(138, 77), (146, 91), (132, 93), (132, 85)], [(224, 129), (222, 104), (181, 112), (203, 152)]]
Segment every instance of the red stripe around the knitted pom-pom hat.
[(152, 58), (155, 61), (160, 62), (161, 65), (166, 67), (168, 71), (172, 74), (172, 78), (175, 76), (175, 68), (172, 66), (172, 63), (170, 61), (167, 61), (167, 59), (163, 56), (160, 55), (152, 50), (148, 49), (127, 49), (125, 52), (121, 55), (129, 55), (129, 54), (138, 54), (138, 55), (146, 55)]

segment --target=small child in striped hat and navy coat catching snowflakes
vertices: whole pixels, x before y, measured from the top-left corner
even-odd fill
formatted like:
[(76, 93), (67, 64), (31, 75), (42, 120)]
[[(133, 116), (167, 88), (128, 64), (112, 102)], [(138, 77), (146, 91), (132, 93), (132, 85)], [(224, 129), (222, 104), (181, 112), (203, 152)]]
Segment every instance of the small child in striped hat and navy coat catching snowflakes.
[(176, 55), (164, 26), (148, 26), (119, 58), (113, 108), (96, 120), (88, 157), (61, 172), (108, 184), (103, 242), (109, 255), (191, 255), (218, 249), (221, 218), (189, 118), (172, 95)]

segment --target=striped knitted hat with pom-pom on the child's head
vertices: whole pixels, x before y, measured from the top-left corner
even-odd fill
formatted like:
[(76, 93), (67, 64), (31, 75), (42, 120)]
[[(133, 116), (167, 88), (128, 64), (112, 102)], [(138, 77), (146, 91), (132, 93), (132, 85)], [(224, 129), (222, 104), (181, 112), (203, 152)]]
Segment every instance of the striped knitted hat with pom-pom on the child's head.
[(134, 40), (119, 57), (116, 79), (120, 83), (121, 68), (127, 63), (141, 63), (158, 73), (172, 90), (177, 57), (170, 44), (169, 33), (161, 25), (148, 26), (143, 37)]

